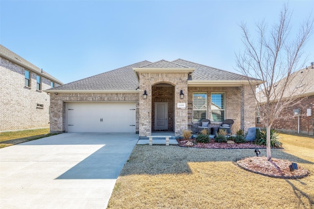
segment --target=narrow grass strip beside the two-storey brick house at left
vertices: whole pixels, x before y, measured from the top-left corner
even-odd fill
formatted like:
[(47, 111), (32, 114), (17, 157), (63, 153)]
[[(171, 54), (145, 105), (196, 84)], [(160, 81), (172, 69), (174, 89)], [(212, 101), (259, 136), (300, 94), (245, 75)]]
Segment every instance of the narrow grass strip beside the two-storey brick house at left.
[(51, 136), (49, 128), (0, 132), (0, 148)]

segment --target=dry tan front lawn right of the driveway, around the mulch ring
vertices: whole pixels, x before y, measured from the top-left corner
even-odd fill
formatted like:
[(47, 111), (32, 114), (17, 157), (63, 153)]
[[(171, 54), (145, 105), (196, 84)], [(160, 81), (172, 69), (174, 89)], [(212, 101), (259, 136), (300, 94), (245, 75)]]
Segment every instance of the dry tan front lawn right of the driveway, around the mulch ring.
[[(254, 149), (136, 145), (117, 179), (109, 209), (314, 209), (314, 138), (280, 134), (272, 157), (310, 176), (276, 179), (239, 168)], [(261, 156), (266, 155), (260, 149)]]

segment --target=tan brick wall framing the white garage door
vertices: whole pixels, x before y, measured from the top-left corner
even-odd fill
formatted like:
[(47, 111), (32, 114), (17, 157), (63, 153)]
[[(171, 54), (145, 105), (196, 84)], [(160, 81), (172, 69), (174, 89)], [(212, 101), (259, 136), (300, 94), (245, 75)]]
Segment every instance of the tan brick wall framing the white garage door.
[(66, 102), (71, 101), (134, 101), (136, 102), (135, 131), (138, 132), (138, 96), (138, 93), (52, 93), (50, 132), (66, 131)]

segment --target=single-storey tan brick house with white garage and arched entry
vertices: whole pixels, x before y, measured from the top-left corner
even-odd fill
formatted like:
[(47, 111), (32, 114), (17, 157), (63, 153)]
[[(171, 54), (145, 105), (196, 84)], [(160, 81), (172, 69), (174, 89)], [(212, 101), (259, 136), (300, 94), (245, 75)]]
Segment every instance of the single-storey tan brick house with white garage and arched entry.
[[(256, 84), (260, 80), (250, 78)], [(255, 126), (254, 97), (243, 75), (177, 59), (142, 61), (55, 87), (51, 132), (138, 133), (195, 131), (203, 118), (232, 131)]]

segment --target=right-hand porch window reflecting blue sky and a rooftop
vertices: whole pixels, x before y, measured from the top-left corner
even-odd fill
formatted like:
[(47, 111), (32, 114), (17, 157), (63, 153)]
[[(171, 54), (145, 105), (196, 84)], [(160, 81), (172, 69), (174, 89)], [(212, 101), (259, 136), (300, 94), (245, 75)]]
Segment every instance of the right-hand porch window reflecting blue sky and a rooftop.
[(225, 93), (211, 93), (210, 120), (212, 122), (222, 122), (225, 119)]

